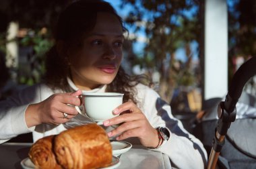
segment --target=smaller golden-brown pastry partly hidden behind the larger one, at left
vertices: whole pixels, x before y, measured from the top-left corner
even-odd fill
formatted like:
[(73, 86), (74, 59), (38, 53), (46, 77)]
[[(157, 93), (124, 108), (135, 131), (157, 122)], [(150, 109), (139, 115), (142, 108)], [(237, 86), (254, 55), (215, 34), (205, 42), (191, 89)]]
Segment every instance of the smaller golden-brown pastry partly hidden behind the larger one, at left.
[(28, 156), (36, 168), (58, 169), (61, 166), (57, 163), (53, 152), (53, 139), (55, 135), (49, 135), (38, 139), (30, 148)]

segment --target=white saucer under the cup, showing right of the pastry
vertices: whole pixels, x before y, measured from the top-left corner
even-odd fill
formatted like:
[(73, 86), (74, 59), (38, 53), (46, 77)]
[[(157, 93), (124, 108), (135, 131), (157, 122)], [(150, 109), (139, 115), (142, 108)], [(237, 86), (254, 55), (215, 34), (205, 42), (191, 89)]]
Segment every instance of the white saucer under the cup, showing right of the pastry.
[(128, 152), (132, 145), (128, 142), (119, 142), (119, 141), (111, 141), (110, 142), (111, 146), (112, 146), (112, 153), (113, 156), (119, 156), (125, 152)]

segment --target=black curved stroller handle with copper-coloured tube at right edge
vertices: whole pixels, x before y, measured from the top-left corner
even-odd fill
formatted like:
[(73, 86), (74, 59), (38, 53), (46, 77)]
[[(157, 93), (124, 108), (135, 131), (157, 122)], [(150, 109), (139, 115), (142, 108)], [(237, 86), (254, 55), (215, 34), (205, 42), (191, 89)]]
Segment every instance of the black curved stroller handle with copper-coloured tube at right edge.
[(218, 123), (214, 135), (212, 151), (207, 164), (207, 169), (216, 168), (218, 156), (225, 143), (225, 135), (231, 122), (236, 119), (236, 103), (243, 92), (243, 87), (249, 78), (256, 74), (256, 57), (252, 57), (242, 64), (232, 77), (228, 95), (225, 101), (218, 105)]

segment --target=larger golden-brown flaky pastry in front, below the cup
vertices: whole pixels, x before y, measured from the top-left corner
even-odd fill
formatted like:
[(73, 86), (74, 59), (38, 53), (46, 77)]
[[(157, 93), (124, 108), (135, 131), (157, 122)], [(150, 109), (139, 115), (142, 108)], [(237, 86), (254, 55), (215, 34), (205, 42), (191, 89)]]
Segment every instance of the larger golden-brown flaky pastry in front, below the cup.
[(112, 162), (112, 146), (102, 127), (81, 125), (55, 137), (54, 152), (63, 168), (102, 168)]

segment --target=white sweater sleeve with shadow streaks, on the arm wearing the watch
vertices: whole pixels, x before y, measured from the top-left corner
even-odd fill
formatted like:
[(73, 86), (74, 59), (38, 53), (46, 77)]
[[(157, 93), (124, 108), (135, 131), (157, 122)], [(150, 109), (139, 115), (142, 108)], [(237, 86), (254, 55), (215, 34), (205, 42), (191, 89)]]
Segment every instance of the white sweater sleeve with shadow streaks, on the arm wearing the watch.
[(179, 119), (173, 117), (170, 105), (160, 99), (158, 93), (148, 87), (143, 88), (138, 90), (143, 113), (153, 127), (167, 127), (170, 131), (168, 141), (160, 148), (152, 150), (167, 154), (173, 167), (205, 168), (207, 153), (203, 144), (184, 129)]

